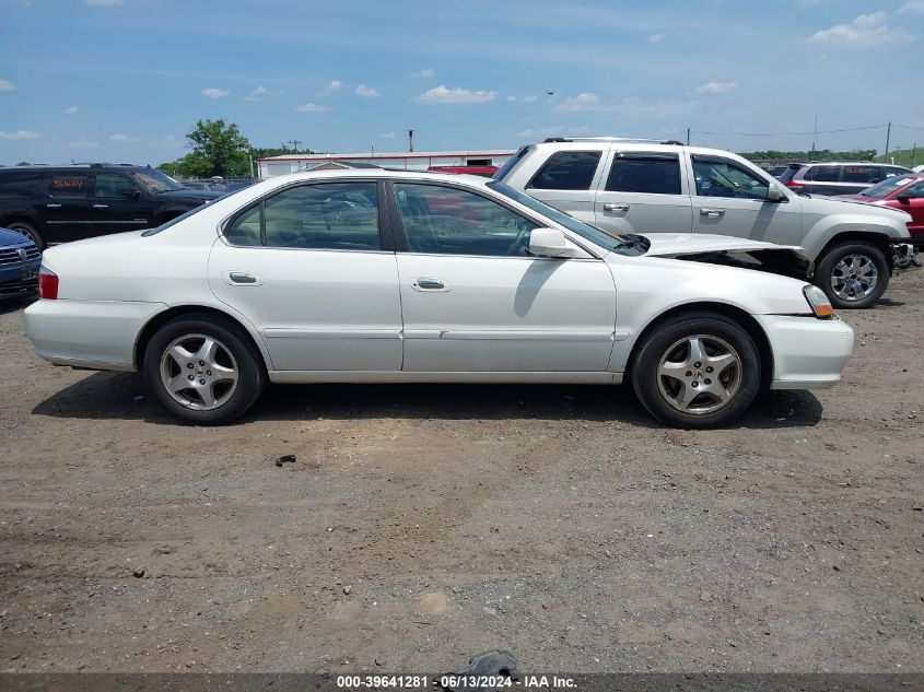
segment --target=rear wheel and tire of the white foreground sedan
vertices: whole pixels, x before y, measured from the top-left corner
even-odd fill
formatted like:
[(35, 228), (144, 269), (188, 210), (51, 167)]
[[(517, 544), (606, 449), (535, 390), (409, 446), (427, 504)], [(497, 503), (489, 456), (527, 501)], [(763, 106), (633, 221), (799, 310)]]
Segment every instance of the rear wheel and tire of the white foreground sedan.
[[(262, 357), (247, 333), (213, 315), (184, 315), (166, 322), (144, 349), (143, 370), (148, 386), (169, 413), (202, 425), (243, 415), (267, 379)], [(180, 388), (187, 382), (189, 386)]]

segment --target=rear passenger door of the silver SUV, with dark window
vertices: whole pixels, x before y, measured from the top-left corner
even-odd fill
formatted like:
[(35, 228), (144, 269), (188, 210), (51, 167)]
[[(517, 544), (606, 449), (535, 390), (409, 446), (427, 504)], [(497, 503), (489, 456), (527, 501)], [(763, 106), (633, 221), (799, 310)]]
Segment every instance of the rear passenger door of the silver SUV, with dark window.
[(594, 204), (596, 225), (616, 233), (690, 233), (692, 202), (677, 153), (612, 151)]

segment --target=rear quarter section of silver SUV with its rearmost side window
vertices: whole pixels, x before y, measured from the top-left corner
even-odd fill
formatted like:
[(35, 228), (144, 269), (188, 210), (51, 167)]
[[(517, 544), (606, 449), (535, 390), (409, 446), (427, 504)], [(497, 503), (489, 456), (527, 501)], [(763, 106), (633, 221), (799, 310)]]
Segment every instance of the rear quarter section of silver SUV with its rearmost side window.
[(594, 223), (594, 197), (609, 146), (562, 149), (548, 157), (525, 186), (530, 197), (561, 209), (586, 223)]

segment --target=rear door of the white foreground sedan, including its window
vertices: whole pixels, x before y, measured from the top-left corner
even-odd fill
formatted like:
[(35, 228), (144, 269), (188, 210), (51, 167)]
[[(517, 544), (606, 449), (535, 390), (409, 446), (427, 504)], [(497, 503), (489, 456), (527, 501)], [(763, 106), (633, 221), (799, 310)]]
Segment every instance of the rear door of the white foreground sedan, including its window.
[[(361, 196), (366, 213), (336, 219), (338, 192)], [(369, 178), (297, 184), (225, 223), (209, 285), (256, 327), (273, 370), (401, 370), (398, 268), (379, 199)]]

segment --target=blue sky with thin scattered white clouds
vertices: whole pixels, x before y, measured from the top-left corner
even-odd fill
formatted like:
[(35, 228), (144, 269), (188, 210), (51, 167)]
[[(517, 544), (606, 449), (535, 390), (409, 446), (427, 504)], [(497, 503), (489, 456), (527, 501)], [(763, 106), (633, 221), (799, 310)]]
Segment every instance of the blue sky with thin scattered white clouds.
[[(924, 146), (924, 0), (0, 0), (0, 163), (182, 155), (199, 118), (317, 151), (553, 134)], [(549, 94), (548, 92), (552, 92)], [(717, 134), (707, 134), (716, 132)], [(780, 133), (748, 137), (746, 133)]]

